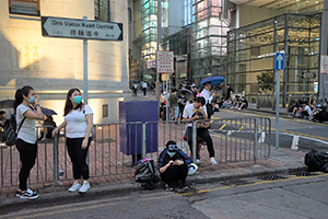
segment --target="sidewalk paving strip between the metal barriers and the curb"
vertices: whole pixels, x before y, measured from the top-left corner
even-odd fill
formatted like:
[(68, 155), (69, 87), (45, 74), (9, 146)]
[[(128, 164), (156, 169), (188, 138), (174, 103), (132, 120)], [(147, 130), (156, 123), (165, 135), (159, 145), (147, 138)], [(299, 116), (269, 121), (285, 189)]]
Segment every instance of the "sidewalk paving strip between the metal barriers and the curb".
[[(292, 151), (290, 149), (272, 149), (271, 155), (267, 160), (259, 160), (257, 164), (250, 162), (219, 163), (218, 165), (201, 164), (195, 175), (187, 177), (187, 183), (192, 187), (195, 184), (226, 181), (231, 178), (250, 177), (266, 174), (292, 173), (306, 170), (304, 165), (305, 152)], [(133, 174), (120, 174), (92, 178), (92, 187), (85, 196), (104, 196), (117, 193), (128, 193), (141, 189), (141, 185), (133, 181)], [(38, 201), (55, 201), (73, 199), (80, 196), (78, 193), (69, 193), (65, 186), (47, 186), (35, 188), (40, 194), (40, 198), (28, 201), (14, 197), (14, 191), (1, 194), (0, 205), (34, 205)], [(156, 189), (163, 189), (162, 184), (156, 185)], [(4, 191), (2, 191), (4, 192)], [(164, 192), (164, 189), (163, 189)], [(30, 203), (30, 204), (28, 204)]]

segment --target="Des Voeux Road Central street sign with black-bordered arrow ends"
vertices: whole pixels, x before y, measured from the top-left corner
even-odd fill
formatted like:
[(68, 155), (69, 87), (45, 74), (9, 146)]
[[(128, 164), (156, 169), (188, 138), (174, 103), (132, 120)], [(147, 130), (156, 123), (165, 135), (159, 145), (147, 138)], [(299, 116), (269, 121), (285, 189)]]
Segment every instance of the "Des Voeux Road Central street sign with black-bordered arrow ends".
[(42, 34), (47, 37), (122, 41), (122, 23), (42, 16)]

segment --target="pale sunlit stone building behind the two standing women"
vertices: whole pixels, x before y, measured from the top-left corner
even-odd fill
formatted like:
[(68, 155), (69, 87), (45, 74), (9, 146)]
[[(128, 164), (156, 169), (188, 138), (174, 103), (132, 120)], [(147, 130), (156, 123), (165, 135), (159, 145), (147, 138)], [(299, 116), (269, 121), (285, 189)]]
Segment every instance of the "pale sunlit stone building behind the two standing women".
[(40, 104), (62, 120), (66, 94), (83, 90), (81, 39), (42, 36), (40, 16), (124, 23), (124, 41), (89, 41), (89, 104), (95, 123), (118, 120), (118, 102), (130, 95), (128, 78), (128, 2), (121, 0), (0, 0), (0, 100), (32, 85)]

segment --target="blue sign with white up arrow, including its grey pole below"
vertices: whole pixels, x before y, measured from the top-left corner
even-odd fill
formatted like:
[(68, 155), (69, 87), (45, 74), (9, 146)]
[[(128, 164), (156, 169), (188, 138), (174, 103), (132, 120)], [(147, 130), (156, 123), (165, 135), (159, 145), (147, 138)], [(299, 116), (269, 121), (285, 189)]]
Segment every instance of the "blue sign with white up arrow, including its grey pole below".
[(276, 148), (279, 148), (279, 99), (280, 99), (280, 70), (284, 68), (284, 54), (276, 53), (274, 70), (277, 76), (276, 89)]

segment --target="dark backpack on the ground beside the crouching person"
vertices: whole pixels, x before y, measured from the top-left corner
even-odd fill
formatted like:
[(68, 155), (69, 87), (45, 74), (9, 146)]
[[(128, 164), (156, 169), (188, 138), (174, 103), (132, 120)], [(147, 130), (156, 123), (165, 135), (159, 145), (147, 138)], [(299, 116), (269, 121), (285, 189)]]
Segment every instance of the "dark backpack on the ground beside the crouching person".
[(154, 161), (144, 159), (139, 162), (136, 168), (134, 180), (141, 183), (145, 189), (154, 189), (155, 183), (160, 181)]

